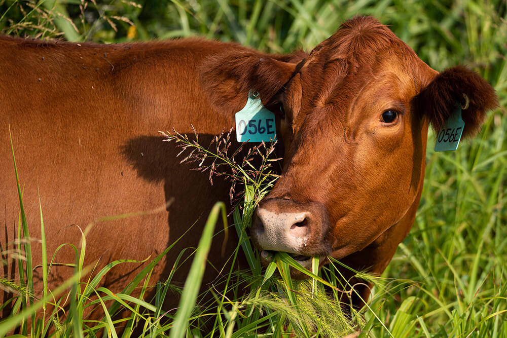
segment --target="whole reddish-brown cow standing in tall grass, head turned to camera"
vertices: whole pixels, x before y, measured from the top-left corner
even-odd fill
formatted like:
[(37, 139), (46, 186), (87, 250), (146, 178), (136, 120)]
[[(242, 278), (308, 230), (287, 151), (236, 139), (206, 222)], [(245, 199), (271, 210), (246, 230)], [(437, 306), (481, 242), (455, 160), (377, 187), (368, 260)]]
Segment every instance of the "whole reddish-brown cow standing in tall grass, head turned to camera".
[[(2, 36), (3, 248), (15, 238), (19, 215), (9, 135), (30, 237), (41, 237), (40, 201), (50, 254), (62, 243), (78, 246), (80, 230), (101, 216), (166, 204), (162, 212), (94, 222), (85, 264), (153, 257), (192, 224), (192, 234), (200, 234), (214, 202), (228, 200), (229, 186), (216, 180), (211, 186), (207, 174), (180, 165), (178, 150), (158, 131), (193, 133), (193, 125), (206, 142), (235, 126), (234, 114), (252, 92), (274, 112), (283, 152), (280, 178), (250, 229), (263, 264), (270, 253), (287, 252), (306, 268), (310, 257), (324, 265), (331, 256), (374, 274), (414, 222), (428, 125), (438, 130), (466, 98), (463, 135), (473, 136), (497, 105), (475, 72), (431, 69), (370, 17), (346, 21), (309, 54), (270, 55), (196, 38), (106, 46)], [(166, 278), (175, 256), (198, 237), (179, 240), (152, 278)], [(226, 252), (236, 244), (230, 238)], [(204, 284), (223, 265), (221, 249), (222, 242), (211, 249)], [(32, 252), (37, 292), (38, 242)], [(74, 250), (64, 246), (55, 261), (74, 262)], [(103, 285), (121, 290), (141, 267), (119, 265)], [(14, 276), (13, 267), (4, 273)], [(72, 273), (53, 267), (50, 288)], [(185, 277), (179, 269), (173, 281)], [(360, 307), (369, 288), (356, 291), (352, 302)]]

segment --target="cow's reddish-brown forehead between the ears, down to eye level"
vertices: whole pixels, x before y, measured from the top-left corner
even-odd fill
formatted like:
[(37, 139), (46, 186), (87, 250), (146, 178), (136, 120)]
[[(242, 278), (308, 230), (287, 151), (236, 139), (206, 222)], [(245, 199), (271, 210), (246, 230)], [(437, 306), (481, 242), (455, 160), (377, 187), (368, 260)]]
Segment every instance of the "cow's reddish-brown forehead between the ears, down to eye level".
[(347, 22), (304, 62), (295, 146), (322, 132), (344, 135), (388, 109), (408, 110), (412, 98), (437, 74), (371, 18)]

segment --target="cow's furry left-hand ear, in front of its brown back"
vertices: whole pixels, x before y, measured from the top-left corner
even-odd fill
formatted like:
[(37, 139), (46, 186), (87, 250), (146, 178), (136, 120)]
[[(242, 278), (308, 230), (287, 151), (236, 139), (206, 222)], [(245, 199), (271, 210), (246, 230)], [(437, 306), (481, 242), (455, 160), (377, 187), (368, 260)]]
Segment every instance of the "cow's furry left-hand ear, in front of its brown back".
[(240, 110), (250, 91), (259, 92), (264, 105), (270, 105), (296, 68), (286, 59), (250, 51), (214, 55), (200, 67), (201, 86), (218, 111)]

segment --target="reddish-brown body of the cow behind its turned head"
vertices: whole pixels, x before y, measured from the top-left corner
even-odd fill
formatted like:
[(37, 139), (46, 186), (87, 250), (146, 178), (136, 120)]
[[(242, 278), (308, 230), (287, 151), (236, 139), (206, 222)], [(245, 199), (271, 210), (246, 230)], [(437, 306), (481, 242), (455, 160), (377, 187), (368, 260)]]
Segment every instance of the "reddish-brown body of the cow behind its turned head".
[[(162, 210), (96, 222), (86, 237), (85, 265), (99, 258), (97, 269), (116, 259), (153, 259), (201, 217), (170, 257), (195, 247), (211, 206), (229, 200), (229, 187), (220, 179), (211, 186), (206, 174), (179, 165), (179, 150), (162, 142), (158, 131), (193, 133), (193, 125), (208, 142), (209, 135), (234, 125), (234, 116), (212, 110), (198, 73), (206, 57), (227, 50), (246, 49), (198, 39), (102, 46), (1, 37), (3, 249), (12, 248), (6, 243), (12, 245), (19, 217), (9, 127), (34, 239), (34, 266), (41, 264), (41, 245), (35, 240), (41, 238), (39, 194), (49, 258), (62, 243), (79, 248), (81, 232), (71, 224), (84, 231), (100, 217), (157, 208)], [(167, 212), (163, 207), (171, 200)], [(210, 257), (220, 269), (225, 260), (220, 250)], [(72, 264), (74, 259), (67, 245), (54, 261)], [(152, 281), (170, 271), (172, 261), (164, 259)], [(121, 290), (134, 276), (129, 273), (140, 271), (136, 267), (118, 266), (106, 275), (106, 285)], [(17, 276), (11, 266), (6, 268), (6, 276)], [(55, 286), (73, 268), (53, 267), (51, 272), (50, 285)], [(36, 293), (42, 289), (41, 274), (34, 269)], [(185, 272), (174, 281), (185, 281)]]

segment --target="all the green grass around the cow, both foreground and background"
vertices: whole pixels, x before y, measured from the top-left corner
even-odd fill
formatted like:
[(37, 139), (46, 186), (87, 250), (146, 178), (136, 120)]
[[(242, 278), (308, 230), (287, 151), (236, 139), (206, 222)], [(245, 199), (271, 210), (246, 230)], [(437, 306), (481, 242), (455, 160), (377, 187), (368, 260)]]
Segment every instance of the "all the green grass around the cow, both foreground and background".
[[(55, 14), (57, 11), (60, 14)], [(118, 294), (98, 288), (100, 278), (121, 261), (112, 262), (96, 277), (77, 283), (87, 271), (80, 264), (86, 254), (82, 246), (76, 248), (76, 275), (68, 281), (74, 287), (69, 293), (73, 306), (67, 315), (47, 313), (49, 326), (32, 325), (29, 332), (27, 324), (36, 308), (44, 309), (44, 301), (60, 304), (63, 298), (56, 297), (67, 295), (58, 296), (56, 291), (65, 291), (53, 290), (54, 297), (46, 293), (37, 301), (31, 294), (31, 277), (23, 273), (19, 285), (11, 284), (17, 290), (15, 309), (11, 317), (0, 322), (0, 336), (20, 324), (21, 333), (32, 336), (42, 336), (50, 329), (62, 336), (94, 336), (104, 329), (106, 335), (115, 336), (114, 328), (120, 325), (126, 327), (124, 336), (134, 327), (142, 327), (145, 336), (286, 336), (287, 332), (297, 336), (338, 336), (357, 328), (363, 329), (360, 336), (372, 337), (507, 336), (504, 1), (176, 0), (150, 2), (143, 7), (88, 2), (86, 9), (70, 2), (57, 6), (38, 2), (32, 6), (8, 1), (0, 4), (0, 29), (42, 37), (63, 33), (68, 40), (97, 42), (201, 35), (280, 53), (297, 48), (309, 50), (334, 32), (343, 20), (358, 14), (376, 16), (390, 25), (394, 33), (437, 70), (459, 63), (469, 65), (494, 86), (500, 100), (500, 107), (488, 116), (478, 137), (460, 144), (456, 152), (434, 153), (434, 134), (430, 132), (425, 186), (416, 223), (382, 278), (375, 279), (369, 307), (355, 314), (352, 322), (342, 321), (334, 293), (342, 285), (333, 284), (338, 283), (337, 269), (333, 266), (302, 283), (287, 278), (287, 266), (295, 264), (288, 256), (278, 257), (273, 265), (261, 270), (255, 251), (242, 235), (251, 217), (248, 203), (255, 203), (252, 199), (255, 194), (249, 193), (243, 211), (234, 213), (235, 224), (230, 224), (230, 230), (238, 231), (241, 238), (238, 250), (249, 257), (252, 272), (229, 273), (220, 284), (220, 293), (214, 293), (214, 303), (197, 304), (190, 312), (187, 308), (177, 318), (168, 316), (167, 309), (162, 308), (162, 299), (173, 288), (172, 275), (156, 284), (157, 295), (151, 304), (132, 297), (132, 288)], [(62, 24), (57, 17), (72, 24)], [(220, 213), (217, 210), (210, 217), (217, 217)], [(43, 211), (38, 224), (41, 227)], [(28, 236), (23, 233), (22, 218), (19, 224), (20, 237)], [(208, 235), (203, 237), (203, 241), (207, 240)], [(21, 241), (19, 250), (26, 254), (29, 242)], [(52, 254), (47, 253), (49, 257)], [(203, 259), (202, 251), (195, 257)], [(155, 284), (149, 281), (149, 276), (157, 259), (135, 277), (133, 285), (146, 290)], [(46, 261), (49, 267), (51, 262)], [(26, 269), (28, 261), (19, 264), (23, 264), (22, 271), (30, 270)], [(332, 284), (331, 296), (323, 295), (322, 282)], [(235, 294), (241, 283), (250, 284), (252, 293), (232, 298), (222, 293), (229, 289)], [(183, 292), (195, 294), (198, 287), (196, 279)], [(89, 299), (90, 295), (95, 298)], [(110, 305), (108, 300), (115, 303)], [(188, 304), (192, 303), (193, 300)], [(90, 323), (81, 317), (82, 309), (102, 304), (107, 314), (102, 321)], [(114, 314), (121, 307), (128, 308), (131, 315), (116, 320)], [(181, 325), (175, 326), (176, 320)]]

